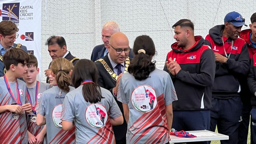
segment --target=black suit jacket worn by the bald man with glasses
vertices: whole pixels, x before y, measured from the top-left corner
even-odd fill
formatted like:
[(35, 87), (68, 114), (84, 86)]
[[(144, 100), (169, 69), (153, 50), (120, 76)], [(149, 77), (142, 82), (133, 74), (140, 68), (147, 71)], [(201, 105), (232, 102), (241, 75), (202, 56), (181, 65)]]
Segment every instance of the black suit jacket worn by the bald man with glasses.
[[(104, 56), (103, 58), (105, 60), (105, 62), (109, 65), (109, 67), (113, 70), (113, 67), (110, 63), (109, 57), (108, 55)], [(94, 63), (96, 65), (96, 67), (98, 68), (99, 71), (99, 79), (98, 79), (98, 84), (105, 88), (108, 89), (111, 94), (113, 95), (113, 88), (116, 86), (116, 81), (111, 77), (111, 75), (106, 71), (106, 69), (104, 68), (104, 66), (101, 64), (100, 61), (96, 61)], [(118, 107), (120, 108), (122, 114), (123, 114), (123, 118), (124, 118), (124, 110), (123, 110), (123, 105), (122, 102), (118, 101), (115, 98), (115, 101), (118, 104)], [(127, 131), (127, 123), (125, 121), (124, 118), (124, 123), (122, 125), (119, 126), (113, 126), (113, 130), (114, 130), (114, 135), (115, 135), (115, 139), (116, 140), (121, 140), (121, 139), (125, 139), (126, 138), (126, 131)]]

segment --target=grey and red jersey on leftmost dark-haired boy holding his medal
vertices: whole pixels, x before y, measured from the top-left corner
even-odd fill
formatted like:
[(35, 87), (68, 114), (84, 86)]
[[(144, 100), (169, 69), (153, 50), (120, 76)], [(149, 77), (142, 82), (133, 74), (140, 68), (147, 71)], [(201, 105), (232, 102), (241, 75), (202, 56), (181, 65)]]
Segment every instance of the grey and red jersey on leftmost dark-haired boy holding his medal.
[[(18, 89), (20, 93), (20, 101), (25, 104), (26, 99), (26, 84), (22, 80), (18, 80)], [(17, 83), (8, 83), (10, 89), (18, 101)], [(9, 94), (3, 77), (0, 78), (0, 106), (17, 104)], [(0, 113), (0, 143), (28, 143), (26, 115), (15, 114), (14, 112), (6, 111)]]

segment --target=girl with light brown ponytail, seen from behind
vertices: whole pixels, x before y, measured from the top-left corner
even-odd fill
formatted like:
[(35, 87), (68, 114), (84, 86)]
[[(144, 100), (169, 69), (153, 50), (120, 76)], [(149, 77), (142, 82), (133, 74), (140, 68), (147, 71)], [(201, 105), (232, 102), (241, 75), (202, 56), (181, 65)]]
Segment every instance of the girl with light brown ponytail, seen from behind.
[(76, 143), (75, 128), (69, 131), (62, 129), (60, 119), (62, 104), (68, 92), (74, 90), (71, 84), (71, 73), (74, 66), (65, 58), (57, 58), (51, 64), (50, 84), (54, 87), (44, 91), (40, 98), (40, 110), (37, 125), (45, 125), (48, 143)]

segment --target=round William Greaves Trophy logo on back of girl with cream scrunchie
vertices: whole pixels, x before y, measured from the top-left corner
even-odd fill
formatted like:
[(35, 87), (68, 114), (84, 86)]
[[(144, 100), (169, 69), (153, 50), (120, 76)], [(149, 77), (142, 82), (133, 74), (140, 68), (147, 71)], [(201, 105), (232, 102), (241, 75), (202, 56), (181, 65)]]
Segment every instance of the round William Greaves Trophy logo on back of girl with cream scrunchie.
[(140, 112), (150, 112), (156, 105), (156, 92), (154, 88), (148, 85), (136, 87), (131, 95), (133, 107)]

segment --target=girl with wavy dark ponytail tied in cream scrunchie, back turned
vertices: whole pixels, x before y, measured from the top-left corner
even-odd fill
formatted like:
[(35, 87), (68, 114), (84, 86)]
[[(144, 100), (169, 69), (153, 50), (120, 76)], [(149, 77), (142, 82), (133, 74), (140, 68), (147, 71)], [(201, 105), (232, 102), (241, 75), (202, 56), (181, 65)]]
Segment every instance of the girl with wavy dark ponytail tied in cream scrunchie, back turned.
[(126, 143), (169, 143), (172, 102), (177, 100), (172, 80), (152, 62), (156, 50), (149, 36), (138, 36), (133, 52), (129, 73), (122, 75), (117, 96), (128, 124)]

